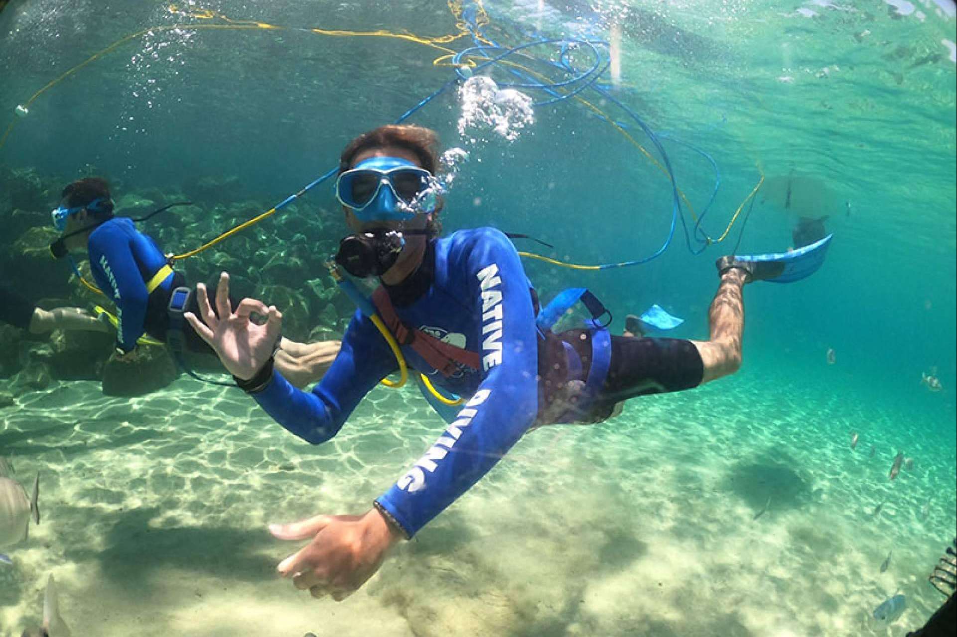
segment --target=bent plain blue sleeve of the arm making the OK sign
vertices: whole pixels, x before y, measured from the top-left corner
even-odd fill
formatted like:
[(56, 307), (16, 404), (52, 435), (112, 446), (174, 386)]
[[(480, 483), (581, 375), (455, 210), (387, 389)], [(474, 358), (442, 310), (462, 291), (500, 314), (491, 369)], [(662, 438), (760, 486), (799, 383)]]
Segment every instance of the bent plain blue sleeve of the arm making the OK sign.
[(265, 389), (253, 396), (279, 425), (319, 445), (339, 433), (359, 401), (397, 367), (386, 340), (356, 312), (336, 360), (312, 391), (303, 391), (274, 372)]

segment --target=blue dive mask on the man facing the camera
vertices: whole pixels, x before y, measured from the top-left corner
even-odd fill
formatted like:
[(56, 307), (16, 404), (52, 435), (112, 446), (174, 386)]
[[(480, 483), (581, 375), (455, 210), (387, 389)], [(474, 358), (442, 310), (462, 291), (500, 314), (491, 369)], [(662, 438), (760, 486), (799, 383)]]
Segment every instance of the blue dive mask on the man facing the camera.
[(436, 190), (431, 172), (398, 157), (370, 157), (336, 180), (336, 199), (363, 222), (433, 212)]

